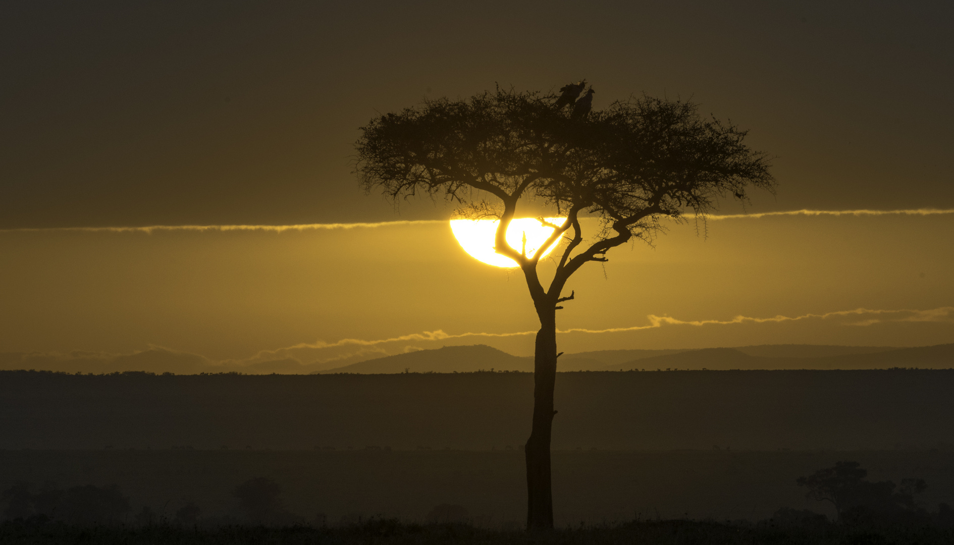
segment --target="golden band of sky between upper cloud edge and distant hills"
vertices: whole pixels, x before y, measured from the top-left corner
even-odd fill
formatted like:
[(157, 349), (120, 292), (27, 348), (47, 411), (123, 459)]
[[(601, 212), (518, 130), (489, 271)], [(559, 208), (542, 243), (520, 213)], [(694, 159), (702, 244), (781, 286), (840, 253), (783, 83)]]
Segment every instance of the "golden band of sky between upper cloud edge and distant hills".
[[(560, 349), (954, 339), (950, 211), (704, 227), (673, 224), (654, 248), (616, 248), (577, 273)], [(446, 221), (5, 231), (0, 254), (0, 351), (156, 346), (330, 368), (444, 345), (528, 355), (537, 326), (522, 274), (468, 256)]]

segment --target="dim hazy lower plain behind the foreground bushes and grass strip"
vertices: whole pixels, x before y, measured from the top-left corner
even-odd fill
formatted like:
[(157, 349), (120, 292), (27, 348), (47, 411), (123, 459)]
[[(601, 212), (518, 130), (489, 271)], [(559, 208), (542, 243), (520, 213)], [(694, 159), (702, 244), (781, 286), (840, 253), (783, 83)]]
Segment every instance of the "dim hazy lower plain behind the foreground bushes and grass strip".
[[(641, 519), (768, 519), (779, 508), (834, 518), (796, 479), (853, 460), (872, 481), (922, 478), (928, 512), (954, 505), (950, 451), (554, 451), (554, 514), (560, 526)], [(57, 488), (116, 485), (133, 524), (148, 508), (172, 518), (189, 504), (200, 521), (240, 522), (232, 492), (267, 477), (285, 509), (308, 524), (371, 516), (423, 522), (459, 505), (477, 526), (519, 528), (526, 514), (522, 451), (0, 451), (0, 491), (29, 483)], [(6, 502), (0, 499), (0, 512)], [(231, 518), (229, 518), (231, 517)], [(952, 541), (954, 543), (954, 541)]]

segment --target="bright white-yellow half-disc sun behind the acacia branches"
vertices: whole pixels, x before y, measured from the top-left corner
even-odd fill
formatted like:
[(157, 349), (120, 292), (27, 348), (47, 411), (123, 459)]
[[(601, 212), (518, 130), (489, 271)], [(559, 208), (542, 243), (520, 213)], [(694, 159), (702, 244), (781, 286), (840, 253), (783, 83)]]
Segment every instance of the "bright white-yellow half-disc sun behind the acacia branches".
[[(545, 218), (548, 223), (559, 225), (566, 221), (566, 218)], [(498, 267), (515, 267), (514, 262), (508, 257), (502, 256), (493, 251), (493, 240), (496, 237), (497, 225), (500, 220), (450, 220), (450, 230), (454, 237), (464, 248), (464, 251), (482, 262)], [(520, 218), (510, 221), (507, 229), (507, 243), (518, 252), (524, 247), (524, 236), (527, 236), (528, 256), (547, 241), (553, 234), (553, 228), (540, 223), (535, 218)], [(544, 251), (543, 255), (549, 254), (553, 248), (559, 244), (559, 239), (550, 244), (550, 247)]]

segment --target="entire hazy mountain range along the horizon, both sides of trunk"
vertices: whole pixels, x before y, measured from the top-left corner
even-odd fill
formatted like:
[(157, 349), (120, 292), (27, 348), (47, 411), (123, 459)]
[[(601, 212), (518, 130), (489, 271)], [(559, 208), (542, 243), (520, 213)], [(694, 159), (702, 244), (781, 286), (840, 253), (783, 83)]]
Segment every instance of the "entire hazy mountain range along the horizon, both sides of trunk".
[[(703, 349), (594, 350), (560, 356), (559, 371), (620, 369), (865, 369), (887, 367), (954, 367), (951, 346), (826, 346), (757, 345)], [(132, 354), (100, 352), (0, 352), (0, 369), (43, 369), (63, 372), (110, 373), (147, 371), (198, 374), (238, 371), (247, 374), (473, 372), (481, 369), (532, 371), (531, 356), (514, 356), (484, 345), (446, 346), (363, 360), (356, 356), (330, 364), (302, 364), (293, 358), (253, 365), (215, 362), (201, 355), (151, 346)], [(350, 365), (349, 365), (350, 364)]]

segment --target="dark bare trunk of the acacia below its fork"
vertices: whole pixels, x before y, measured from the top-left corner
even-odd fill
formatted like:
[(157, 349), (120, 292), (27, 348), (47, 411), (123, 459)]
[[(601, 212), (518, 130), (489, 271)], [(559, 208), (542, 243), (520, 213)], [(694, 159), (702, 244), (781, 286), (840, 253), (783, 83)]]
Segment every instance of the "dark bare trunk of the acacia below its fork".
[(527, 440), (527, 529), (553, 528), (550, 491), (550, 430), (556, 383), (556, 311), (542, 312), (533, 354), (533, 428)]

